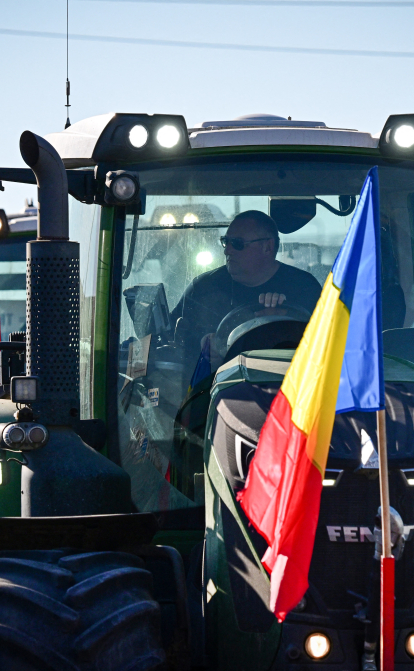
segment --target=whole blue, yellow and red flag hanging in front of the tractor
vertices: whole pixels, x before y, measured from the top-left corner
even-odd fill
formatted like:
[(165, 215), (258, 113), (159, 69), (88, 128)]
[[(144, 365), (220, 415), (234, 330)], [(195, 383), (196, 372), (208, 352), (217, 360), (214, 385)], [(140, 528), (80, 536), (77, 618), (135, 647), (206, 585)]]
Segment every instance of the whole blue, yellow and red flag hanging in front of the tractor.
[(377, 168), (263, 426), (239, 493), (269, 547), (270, 607), (282, 622), (308, 588), (335, 414), (384, 407)]

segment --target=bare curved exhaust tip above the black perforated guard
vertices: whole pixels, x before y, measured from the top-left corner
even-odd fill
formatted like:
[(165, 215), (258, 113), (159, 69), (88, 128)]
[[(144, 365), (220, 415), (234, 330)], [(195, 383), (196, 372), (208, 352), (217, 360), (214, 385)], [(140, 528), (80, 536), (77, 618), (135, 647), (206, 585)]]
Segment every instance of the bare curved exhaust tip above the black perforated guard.
[(57, 151), (39, 135), (24, 131), (20, 153), (38, 187), (38, 240), (69, 240), (68, 179)]

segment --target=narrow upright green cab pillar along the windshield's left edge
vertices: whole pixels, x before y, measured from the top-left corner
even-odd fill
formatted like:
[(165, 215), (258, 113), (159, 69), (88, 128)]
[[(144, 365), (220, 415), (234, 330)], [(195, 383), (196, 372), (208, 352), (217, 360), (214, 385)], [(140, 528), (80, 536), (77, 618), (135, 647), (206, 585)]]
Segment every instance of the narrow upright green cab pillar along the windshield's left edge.
[(101, 208), (95, 303), (93, 416), (106, 421), (107, 354), (114, 237), (114, 208)]

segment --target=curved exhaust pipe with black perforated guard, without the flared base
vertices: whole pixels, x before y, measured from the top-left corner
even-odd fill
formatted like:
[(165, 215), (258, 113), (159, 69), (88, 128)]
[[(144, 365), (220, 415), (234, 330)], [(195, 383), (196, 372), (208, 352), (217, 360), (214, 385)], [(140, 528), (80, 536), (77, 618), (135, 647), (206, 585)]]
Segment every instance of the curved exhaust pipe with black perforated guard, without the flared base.
[(27, 243), (26, 370), (40, 379), (33, 403), (43, 424), (79, 418), (79, 243), (69, 241), (68, 181), (57, 151), (30, 131), (23, 160), (37, 180), (37, 240)]

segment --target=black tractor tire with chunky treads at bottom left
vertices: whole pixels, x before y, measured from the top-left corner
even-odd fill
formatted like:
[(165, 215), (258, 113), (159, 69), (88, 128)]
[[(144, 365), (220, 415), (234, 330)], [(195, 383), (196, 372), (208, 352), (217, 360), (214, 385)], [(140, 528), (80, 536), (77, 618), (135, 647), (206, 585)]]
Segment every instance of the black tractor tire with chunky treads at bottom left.
[(1, 671), (164, 671), (143, 566), (123, 552), (0, 552)]

